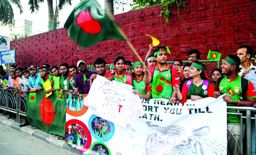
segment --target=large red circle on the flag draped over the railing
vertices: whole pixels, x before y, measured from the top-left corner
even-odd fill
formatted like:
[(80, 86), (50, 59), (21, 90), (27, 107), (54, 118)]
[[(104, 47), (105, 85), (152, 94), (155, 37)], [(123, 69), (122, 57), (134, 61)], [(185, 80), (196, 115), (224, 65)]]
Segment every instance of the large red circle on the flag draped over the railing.
[(40, 103), (40, 116), (44, 124), (50, 125), (54, 120), (54, 108), (52, 102), (44, 97)]

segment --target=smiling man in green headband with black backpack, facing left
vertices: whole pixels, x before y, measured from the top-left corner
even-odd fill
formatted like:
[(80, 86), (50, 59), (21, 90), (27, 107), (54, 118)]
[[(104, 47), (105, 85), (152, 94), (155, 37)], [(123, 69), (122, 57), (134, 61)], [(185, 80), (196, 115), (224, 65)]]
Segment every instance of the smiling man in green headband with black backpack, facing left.
[[(221, 65), (222, 73), (225, 77), (219, 77), (214, 92), (214, 98), (225, 94), (222, 98), (227, 102), (227, 106), (250, 106), (256, 101), (256, 94), (253, 84), (247, 79), (238, 75), (240, 58), (236, 55), (228, 55)], [(237, 113), (237, 110), (227, 110), (227, 112)], [(243, 137), (240, 135), (241, 122), (239, 115), (227, 114), (228, 129), (234, 134), (235, 139), (228, 131), (228, 150), (230, 154), (239, 155), (240, 142)], [(245, 124), (243, 124), (243, 134)], [(237, 143), (239, 147), (237, 146)]]

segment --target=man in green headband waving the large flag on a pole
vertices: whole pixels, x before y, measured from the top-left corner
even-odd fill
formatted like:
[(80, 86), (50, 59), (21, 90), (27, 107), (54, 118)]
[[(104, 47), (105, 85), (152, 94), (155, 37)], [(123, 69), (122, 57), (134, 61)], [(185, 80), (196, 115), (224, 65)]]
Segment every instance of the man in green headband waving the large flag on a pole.
[[(154, 49), (154, 58), (157, 61), (156, 66), (146, 66), (144, 68), (145, 72), (145, 77), (144, 77), (144, 83), (145, 85), (149, 85), (151, 80), (153, 79), (152, 82), (152, 98), (153, 99), (158, 99), (158, 98), (163, 98), (163, 99), (170, 99), (172, 102), (176, 101), (177, 94), (176, 92), (173, 91), (173, 86), (169, 83), (164, 83), (162, 91), (160, 91), (159, 95), (154, 95), (153, 92), (158, 92), (159, 90), (156, 89), (158, 86), (158, 83), (161, 82), (159, 79), (159, 75), (162, 77), (165, 77), (168, 81), (174, 83), (174, 84), (180, 84), (179, 81), (179, 74), (177, 70), (171, 66), (169, 66), (166, 61), (167, 61), (167, 56), (166, 56), (166, 47), (165, 46), (160, 46)], [(154, 84), (155, 83), (155, 84)]]

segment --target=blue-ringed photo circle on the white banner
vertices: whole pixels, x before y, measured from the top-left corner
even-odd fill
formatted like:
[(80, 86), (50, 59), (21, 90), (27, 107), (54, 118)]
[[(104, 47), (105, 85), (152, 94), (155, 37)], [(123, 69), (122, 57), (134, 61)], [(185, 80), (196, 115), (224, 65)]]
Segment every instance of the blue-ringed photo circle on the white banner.
[(90, 117), (88, 127), (91, 135), (102, 142), (109, 141), (115, 133), (115, 126), (112, 122), (96, 115)]

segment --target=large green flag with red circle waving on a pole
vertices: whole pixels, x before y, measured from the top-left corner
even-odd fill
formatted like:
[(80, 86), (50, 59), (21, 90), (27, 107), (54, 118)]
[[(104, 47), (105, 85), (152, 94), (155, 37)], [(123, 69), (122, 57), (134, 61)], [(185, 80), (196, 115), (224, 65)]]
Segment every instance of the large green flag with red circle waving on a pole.
[(72, 40), (89, 47), (107, 39), (126, 40), (113, 23), (96, 0), (85, 0), (73, 9), (64, 27)]

